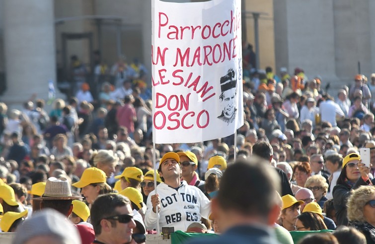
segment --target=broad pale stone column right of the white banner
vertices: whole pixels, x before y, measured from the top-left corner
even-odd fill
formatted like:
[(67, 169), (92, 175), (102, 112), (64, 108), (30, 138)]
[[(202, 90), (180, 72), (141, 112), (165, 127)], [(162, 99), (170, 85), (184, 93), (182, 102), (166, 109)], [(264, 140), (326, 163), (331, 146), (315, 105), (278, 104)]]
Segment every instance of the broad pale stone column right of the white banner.
[(320, 75), (323, 86), (337, 83), (333, 0), (274, 0), (274, 4), (277, 67), (285, 66), (291, 74), (300, 67), (309, 79)]

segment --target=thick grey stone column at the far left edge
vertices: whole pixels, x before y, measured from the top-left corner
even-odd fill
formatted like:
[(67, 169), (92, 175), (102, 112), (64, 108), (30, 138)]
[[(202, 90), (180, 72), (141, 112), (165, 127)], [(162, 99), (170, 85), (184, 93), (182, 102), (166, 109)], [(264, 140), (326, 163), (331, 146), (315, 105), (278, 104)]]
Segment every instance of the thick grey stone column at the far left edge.
[(19, 107), (33, 93), (48, 99), (48, 80), (55, 81), (53, 0), (4, 0), (4, 51), (7, 89), (1, 97)]

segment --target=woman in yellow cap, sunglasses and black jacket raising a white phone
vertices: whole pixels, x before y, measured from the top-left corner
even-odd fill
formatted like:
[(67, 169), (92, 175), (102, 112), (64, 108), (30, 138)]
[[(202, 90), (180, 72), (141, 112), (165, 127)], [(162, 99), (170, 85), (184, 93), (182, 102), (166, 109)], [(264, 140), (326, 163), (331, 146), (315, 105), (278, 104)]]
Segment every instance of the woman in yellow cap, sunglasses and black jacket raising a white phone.
[(369, 177), (370, 167), (361, 161), (361, 156), (356, 153), (347, 155), (342, 163), (342, 170), (337, 184), (333, 188), (333, 202), (336, 211), (337, 226), (348, 225), (347, 202), (351, 190), (357, 189), (361, 185), (371, 184)]

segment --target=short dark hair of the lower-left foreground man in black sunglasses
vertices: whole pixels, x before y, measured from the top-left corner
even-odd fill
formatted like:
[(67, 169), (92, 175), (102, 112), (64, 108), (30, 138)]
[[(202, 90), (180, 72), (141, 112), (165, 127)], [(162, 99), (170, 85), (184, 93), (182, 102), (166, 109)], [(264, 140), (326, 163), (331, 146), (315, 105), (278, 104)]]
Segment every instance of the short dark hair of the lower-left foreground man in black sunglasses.
[[(116, 211), (117, 207), (130, 204), (130, 200), (120, 194), (104, 194), (96, 198), (90, 210), (91, 224), (94, 227), (95, 235), (100, 235), (101, 233), (100, 221), (102, 219), (119, 214)], [(111, 224), (112, 227), (116, 226), (115, 221), (111, 221)]]

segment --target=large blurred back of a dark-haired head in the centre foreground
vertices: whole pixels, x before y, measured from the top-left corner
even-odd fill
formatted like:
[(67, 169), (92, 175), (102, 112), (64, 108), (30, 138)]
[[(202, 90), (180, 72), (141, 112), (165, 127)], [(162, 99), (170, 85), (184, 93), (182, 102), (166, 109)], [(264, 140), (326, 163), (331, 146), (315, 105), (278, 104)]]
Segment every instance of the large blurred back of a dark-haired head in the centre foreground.
[[(249, 187), (251, 185), (257, 187)], [(276, 201), (275, 191), (280, 191), (280, 185), (280, 177), (267, 161), (249, 157), (228, 166), (221, 178), (217, 199), (225, 210), (267, 219)]]

